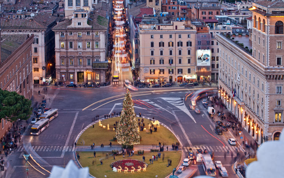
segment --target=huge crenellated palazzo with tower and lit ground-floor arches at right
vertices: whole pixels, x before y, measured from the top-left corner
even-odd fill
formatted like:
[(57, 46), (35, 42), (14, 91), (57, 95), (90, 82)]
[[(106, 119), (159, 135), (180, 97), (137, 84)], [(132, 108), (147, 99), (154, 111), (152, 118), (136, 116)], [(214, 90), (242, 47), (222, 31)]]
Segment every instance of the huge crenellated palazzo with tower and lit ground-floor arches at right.
[(258, 144), (278, 140), (283, 122), (283, 1), (252, 2), (252, 53), (217, 34), (219, 95)]

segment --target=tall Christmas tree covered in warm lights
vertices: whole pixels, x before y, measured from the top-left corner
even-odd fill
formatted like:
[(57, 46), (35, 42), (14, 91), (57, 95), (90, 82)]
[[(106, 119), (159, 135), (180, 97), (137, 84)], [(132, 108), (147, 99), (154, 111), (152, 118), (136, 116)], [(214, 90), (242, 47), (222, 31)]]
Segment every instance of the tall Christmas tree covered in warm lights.
[(116, 138), (117, 142), (131, 146), (140, 143), (140, 136), (138, 132), (138, 124), (135, 119), (134, 104), (131, 98), (131, 94), (127, 89), (121, 112), (121, 118), (117, 123)]

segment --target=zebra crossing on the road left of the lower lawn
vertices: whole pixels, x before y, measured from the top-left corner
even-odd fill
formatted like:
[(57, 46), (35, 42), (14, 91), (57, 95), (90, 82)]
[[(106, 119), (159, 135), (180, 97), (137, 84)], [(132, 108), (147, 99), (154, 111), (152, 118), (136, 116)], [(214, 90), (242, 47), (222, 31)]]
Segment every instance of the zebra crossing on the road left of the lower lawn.
[[(23, 151), (24, 147), (20, 146), (16, 151)], [(61, 152), (61, 151), (74, 151), (75, 147), (72, 146), (30, 146), (28, 150), (36, 152)]]

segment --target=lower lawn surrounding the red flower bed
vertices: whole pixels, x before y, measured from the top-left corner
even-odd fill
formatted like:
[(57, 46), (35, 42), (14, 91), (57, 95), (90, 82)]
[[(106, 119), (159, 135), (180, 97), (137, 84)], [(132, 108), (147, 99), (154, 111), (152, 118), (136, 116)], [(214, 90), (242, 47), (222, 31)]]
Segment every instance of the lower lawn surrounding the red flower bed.
[[(181, 159), (181, 151), (165, 151), (161, 152), (161, 158), (158, 161), (154, 161), (154, 164), (149, 164), (149, 159), (153, 154), (157, 154), (157, 152), (144, 152), (144, 156), (146, 157), (146, 163), (148, 167), (145, 172), (137, 172), (131, 173), (130, 171), (124, 173), (124, 171), (114, 172), (112, 171), (112, 167), (110, 164), (117, 160), (122, 160), (122, 155), (117, 155), (116, 160), (113, 160), (113, 156), (109, 156), (108, 159), (105, 158), (106, 153), (111, 155), (111, 152), (96, 152), (96, 158), (93, 157), (93, 152), (78, 152), (80, 155), (80, 164), (83, 167), (89, 167), (89, 172), (96, 178), (104, 178), (106, 177), (115, 177), (115, 178), (124, 178), (124, 177), (135, 177), (135, 178), (145, 178), (145, 177), (155, 177), (158, 175), (159, 178), (167, 177), (172, 173), (172, 169), (176, 168), (180, 163)], [(77, 152), (76, 152), (77, 154)], [(162, 162), (162, 157), (164, 154), (164, 162)], [(100, 158), (102, 158), (103, 165), (100, 164)], [(124, 159), (136, 159), (142, 161), (142, 156), (135, 154), (135, 156), (126, 157)], [(167, 167), (167, 160), (172, 160), (172, 166)], [(93, 165), (94, 160), (94, 165)]]

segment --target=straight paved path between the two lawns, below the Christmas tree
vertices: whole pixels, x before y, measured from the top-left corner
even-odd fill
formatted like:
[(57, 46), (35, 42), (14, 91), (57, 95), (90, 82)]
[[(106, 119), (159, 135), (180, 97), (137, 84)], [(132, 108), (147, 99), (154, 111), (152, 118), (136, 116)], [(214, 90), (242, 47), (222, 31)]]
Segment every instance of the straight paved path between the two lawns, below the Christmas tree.
[[(168, 151), (175, 151), (172, 150), (172, 145), (165, 145), (164, 146), (164, 151), (166, 151), (166, 147), (168, 147)], [(112, 150), (121, 150), (121, 146), (95, 146), (94, 149), (91, 149), (91, 146), (77, 146), (75, 148), (75, 151), (112, 151)], [(159, 146), (134, 146), (133, 150), (144, 150), (144, 151), (150, 151), (151, 149), (160, 149)], [(181, 151), (182, 147), (178, 147), (179, 151)]]

